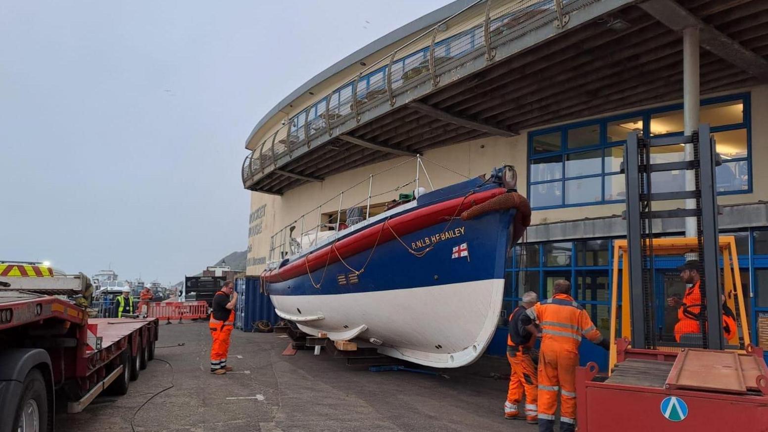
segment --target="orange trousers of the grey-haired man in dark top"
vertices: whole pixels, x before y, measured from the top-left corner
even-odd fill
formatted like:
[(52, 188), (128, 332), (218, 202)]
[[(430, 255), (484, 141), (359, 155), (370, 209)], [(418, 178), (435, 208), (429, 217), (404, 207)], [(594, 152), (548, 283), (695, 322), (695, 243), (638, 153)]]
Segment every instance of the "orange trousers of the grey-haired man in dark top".
[(521, 352), (507, 351), (507, 360), (511, 367), (507, 402), (504, 404), (505, 417), (518, 417), (518, 404), (522, 402), (525, 390), (525, 418), (535, 420), (538, 416), (538, 373), (531, 356)]

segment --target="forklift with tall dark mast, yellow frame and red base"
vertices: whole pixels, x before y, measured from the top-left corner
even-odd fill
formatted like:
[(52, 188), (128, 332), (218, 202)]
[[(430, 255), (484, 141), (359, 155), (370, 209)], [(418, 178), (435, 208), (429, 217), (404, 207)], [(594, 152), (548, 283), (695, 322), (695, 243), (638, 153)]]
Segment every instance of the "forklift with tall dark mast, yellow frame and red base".
[[(692, 158), (652, 161), (652, 154), (679, 145), (690, 145)], [(768, 430), (768, 367), (763, 350), (750, 344), (735, 240), (718, 236), (714, 181), (720, 163), (708, 125), (682, 136), (627, 137), (627, 239), (614, 241), (609, 374), (598, 375), (594, 363), (577, 368), (580, 432)], [(673, 170), (693, 171), (694, 188), (654, 192), (652, 173)], [(679, 199), (696, 205), (670, 209), (662, 203)], [(697, 235), (658, 238), (654, 221), (664, 218), (695, 218)], [(696, 266), (700, 303), (670, 314), (667, 297), (695, 285), (660, 287), (659, 259)], [(737, 324), (728, 338), (726, 307)], [(683, 319), (695, 323), (685, 332), (674, 327)]]

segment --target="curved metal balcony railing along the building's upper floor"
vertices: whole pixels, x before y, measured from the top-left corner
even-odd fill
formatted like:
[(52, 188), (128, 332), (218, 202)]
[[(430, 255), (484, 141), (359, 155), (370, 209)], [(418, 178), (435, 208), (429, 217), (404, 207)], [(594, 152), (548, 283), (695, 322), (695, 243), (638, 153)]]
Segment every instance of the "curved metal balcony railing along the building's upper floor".
[[(397, 48), (328, 95), (290, 118), (266, 137), (243, 161), (243, 185), (257, 175), (276, 168), (284, 157), (326, 134), (333, 128), (371, 108), (375, 101), (397, 96), (425, 81), (439, 85), (439, 76), (474, 58), (495, 58), (494, 47), (519, 38), (534, 28), (554, 22), (568, 23), (568, 12), (596, 0), (478, 0), (445, 18), (421, 35)], [(450, 35), (440, 38), (441, 34)]]

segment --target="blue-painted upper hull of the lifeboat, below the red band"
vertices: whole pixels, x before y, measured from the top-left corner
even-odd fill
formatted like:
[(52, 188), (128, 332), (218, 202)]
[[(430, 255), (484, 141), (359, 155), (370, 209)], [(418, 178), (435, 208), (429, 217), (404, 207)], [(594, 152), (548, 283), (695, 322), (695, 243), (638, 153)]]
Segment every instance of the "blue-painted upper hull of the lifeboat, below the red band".
[[(397, 239), (379, 244), (373, 251), (362, 251), (345, 258), (349, 267), (360, 270), (359, 282), (349, 283), (349, 270), (342, 262), (328, 265), (323, 277), (323, 268), (312, 272), (310, 277), (303, 274), (289, 281), (269, 284), (271, 295), (316, 295), (349, 294), (369, 291), (387, 291), (413, 287), (431, 287), (467, 281), (503, 279), (506, 252), (511, 241), (511, 224), (515, 211), (495, 211), (462, 221), (455, 219), (447, 232), (451, 237), (438, 241), (431, 251), (422, 257), (411, 254)], [(412, 247), (417, 241), (432, 239), (445, 231), (447, 221), (401, 236), (402, 241)], [(385, 228), (387, 229), (387, 228)], [(466, 243), (469, 257), (452, 258), (453, 248)], [(423, 251), (426, 248), (417, 248)], [(339, 284), (339, 277), (346, 284)]]

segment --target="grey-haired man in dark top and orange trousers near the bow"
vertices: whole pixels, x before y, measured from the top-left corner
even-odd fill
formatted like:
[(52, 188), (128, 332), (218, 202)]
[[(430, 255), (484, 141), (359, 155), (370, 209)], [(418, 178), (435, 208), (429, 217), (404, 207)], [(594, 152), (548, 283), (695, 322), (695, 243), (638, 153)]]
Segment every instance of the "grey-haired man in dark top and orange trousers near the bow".
[(523, 389), (525, 388), (525, 420), (528, 424), (538, 423), (538, 353), (533, 345), (536, 342), (535, 333), (531, 333), (520, 322), (525, 311), (533, 307), (538, 301), (538, 295), (533, 291), (523, 294), (522, 301), (509, 317), (509, 335), (507, 336), (507, 360), (511, 366), (509, 375), (509, 390), (507, 401), (504, 404), (504, 417), (508, 419), (518, 417), (518, 404), (522, 402)]

